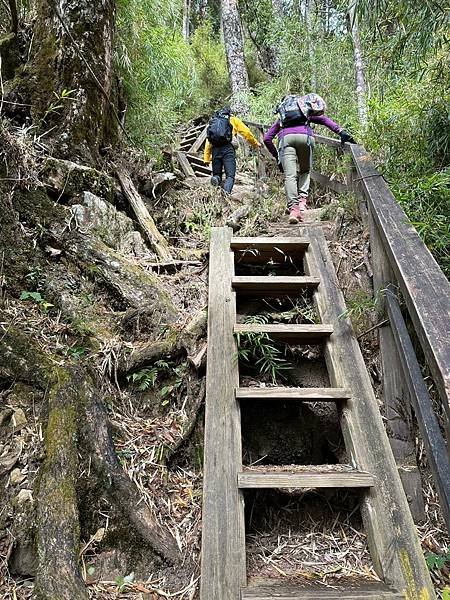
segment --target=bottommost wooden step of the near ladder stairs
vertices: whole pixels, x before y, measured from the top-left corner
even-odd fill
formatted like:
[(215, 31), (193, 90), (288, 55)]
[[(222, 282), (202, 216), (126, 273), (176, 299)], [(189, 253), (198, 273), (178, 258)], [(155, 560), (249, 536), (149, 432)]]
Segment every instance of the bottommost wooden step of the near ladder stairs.
[[(338, 588), (338, 589), (336, 589)], [(262, 585), (241, 589), (241, 600), (401, 600), (404, 595), (386, 586), (384, 583), (361, 583), (342, 587), (342, 584), (289, 586)]]

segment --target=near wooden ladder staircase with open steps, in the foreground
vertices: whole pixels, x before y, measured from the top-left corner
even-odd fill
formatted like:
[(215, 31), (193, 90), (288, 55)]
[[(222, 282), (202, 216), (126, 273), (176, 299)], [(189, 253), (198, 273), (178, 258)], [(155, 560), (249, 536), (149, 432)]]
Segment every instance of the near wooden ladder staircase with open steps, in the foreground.
[[(305, 231), (305, 229), (303, 229)], [(377, 400), (345, 311), (319, 228), (308, 238), (233, 238), (211, 233), (205, 420), (201, 600), (362, 600), (435, 598)], [(237, 264), (302, 263), (304, 275), (235, 275)], [(303, 271), (302, 271), (303, 272)], [(238, 324), (236, 301), (313, 294), (319, 324)], [(290, 344), (321, 344), (331, 387), (240, 387), (237, 333), (265, 333)], [(241, 405), (246, 402), (335, 402), (348, 465), (280, 469), (242, 464)], [(359, 488), (361, 514), (381, 582), (333, 589), (247, 581), (244, 489)], [(249, 585), (250, 584), (250, 585)]]

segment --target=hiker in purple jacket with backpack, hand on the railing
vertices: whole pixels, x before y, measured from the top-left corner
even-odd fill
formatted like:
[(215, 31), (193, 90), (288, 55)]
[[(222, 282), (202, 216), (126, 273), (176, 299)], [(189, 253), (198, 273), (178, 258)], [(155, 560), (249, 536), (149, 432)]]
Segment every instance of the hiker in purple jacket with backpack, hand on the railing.
[[(345, 129), (324, 115), (325, 110), (325, 102), (317, 94), (285, 96), (276, 109), (280, 118), (264, 135), (264, 144), (284, 173), (289, 223), (303, 221), (308, 199), (314, 148), (314, 131), (309, 124), (325, 125), (341, 137), (342, 143), (355, 143)], [(273, 143), (275, 136), (278, 150)]]

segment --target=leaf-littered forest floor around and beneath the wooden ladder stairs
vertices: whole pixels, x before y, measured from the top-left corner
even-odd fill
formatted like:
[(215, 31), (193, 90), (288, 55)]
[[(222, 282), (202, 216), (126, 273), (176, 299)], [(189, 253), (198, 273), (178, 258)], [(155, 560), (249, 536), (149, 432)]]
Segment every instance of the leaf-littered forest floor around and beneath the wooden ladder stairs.
[[(31, 220), (22, 219), (24, 235), (40, 248), (43, 258), (41, 266), (30, 267), (28, 285), (22, 290), (10, 293), (3, 281), (1, 330), (5, 336), (20, 326), (55, 365), (70, 362), (94, 368), (120, 465), (137, 487), (140, 502), (161, 528), (170, 532), (179, 550), (172, 565), (149, 550), (131, 531), (120, 507), (107, 495), (94, 494), (89, 483), (91, 463), (81, 461), (77, 473), (82, 500), (79, 560), (90, 598), (198, 598), (209, 231), (213, 225), (224, 225), (245, 198), (250, 198), (250, 213), (237, 235), (301, 235), (301, 227), (287, 225), (279, 175), (270, 171), (262, 193), (256, 195), (252, 161), (240, 160), (241, 175), (232, 198), (206, 182), (197, 186), (180, 177), (158, 188), (156, 194), (153, 186), (152, 197), (153, 175), (142, 168), (132, 173), (173, 251), (173, 260), (162, 265), (142, 239), (134, 236), (134, 246), (126, 246), (128, 221), (123, 221), (117, 233), (122, 246), (117, 239), (107, 241), (111, 223), (121, 219), (119, 213), (132, 216), (120, 192), (114, 192), (113, 202), (89, 204), (92, 198), (85, 193), (98, 193), (98, 186), (83, 184), (69, 191), (68, 179), (61, 184), (53, 178), (53, 200), (64, 213), (67, 226), (78, 231), (84, 228), (106, 244), (116, 244), (114, 260), (126, 259), (126, 268), (136, 270), (138, 287), (149, 303), (147, 310), (142, 298), (134, 302), (136, 290), (125, 288), (125, 262), (120, 263), (119, 279), (106, 269), (101, 271), (106, 259), (96, 263), (88, 257), (90, 267), (75, 268), (74, 254), (69, 260), (69, 248), (58, 246), (56, 235), (52, 241), (47, 234), (41, 235)], [(80, 205), (96, 206), (90, 214), (92, 219), (94, 213), (98, 217), (95, 225), (83, 222), (85, 212)], [(380, 398), (377, 335), (376, 329), (371, 330), (377, 315), (368, 301), (372, 289), (367, 228), (354, 198), (342, 200), (315, 189), (310, 209), (310, 226), (323, 226), (329, 240), (349, 316)], [(158, 303), (152, 304), (146, 297), (150, 283), (143, 280), (144, 275), (155, 282)], [(134, 285), (132, 278), (130, 285)], [(61, 297), (66, 296), (70, 302), (61, 304)], [(297, 371), (289, 375), (291, 384), (298, 384), (300, 377), (303, 385), (319, 385), (324, 378), (320, 353), (310, 351), (297, 358)], [(247, 384), (263, 381), (251, 370), (244, 369), (242, 377)], [(2, 372), (0, 384), (0, 595), (4, 600), (25, 599), (33, 597), (36, 573), (30, 540), (35, 533), (34, 490), (46, 452), (46, 391), (11, 381)], [(316, 433), (327, 423), (319, 444), (320, 457), (311, 458), (306, 442), (304, 448), (295, 448), (303, 464), (324, 457), (340, 462), (342, 444), (335, 430), (336, 415), (312, 411), (301, 418), (307, 418)], [(243, 415), (244, 425), (245, 419)], [(273, 445), (276, 425), (265, 431)], [(424, 552), (440, 554), (447, 543), (445, 528), (423, 445), (416, 439), (426, 510), (418, 532)], [(248, 464), (258, 462), (263, 454), (270, 455), (271, 449), (251, 431), (246, 444)], [(317, 440), (314, 444), (317, 446)], [(290, 464), (295, 452), (292, 447), (286, 450), (284, 464)], [(343, 578), (377, 578), (355, 496), (265, 492), (248, 495), (246, 505), (249, 577), (314, 581), (324, 586)], [(22, 539), (24, 529), (29, 533)], [(434, 569), (432, 576), (438, 588), (449, 583), (445, 570)]]

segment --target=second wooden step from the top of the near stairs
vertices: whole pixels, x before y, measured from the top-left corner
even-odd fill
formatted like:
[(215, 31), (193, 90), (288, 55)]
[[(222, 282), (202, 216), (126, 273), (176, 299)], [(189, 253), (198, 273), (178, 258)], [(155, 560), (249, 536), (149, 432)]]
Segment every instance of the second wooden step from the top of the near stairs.
[(265, 298), (292, 295), (301, 290), (315, 289), (319, 283), (320, 279), (318, 277), (285, 275), (236, 276), (231, 280), (233, 288), (241, 294)]

